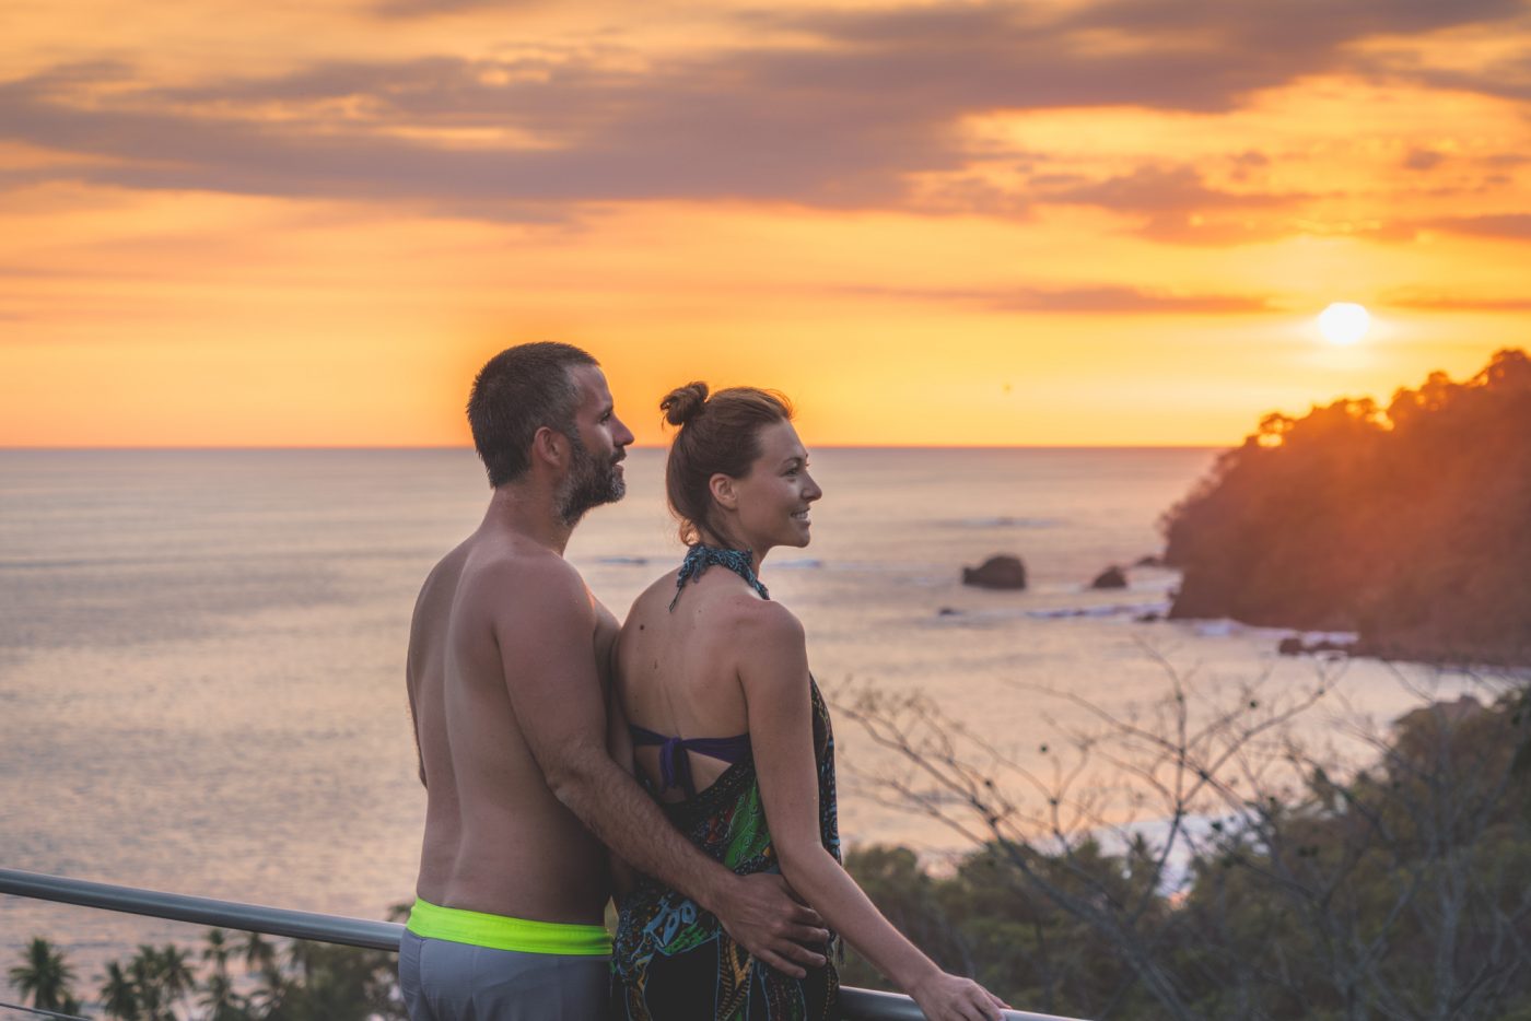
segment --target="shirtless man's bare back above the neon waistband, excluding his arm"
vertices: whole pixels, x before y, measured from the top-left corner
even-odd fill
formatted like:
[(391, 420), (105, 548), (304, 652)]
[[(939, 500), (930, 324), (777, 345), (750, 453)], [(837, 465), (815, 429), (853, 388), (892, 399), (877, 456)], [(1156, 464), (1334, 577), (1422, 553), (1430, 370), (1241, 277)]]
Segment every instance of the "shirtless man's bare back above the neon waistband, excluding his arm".
[[(609, 895), (606, 850), (548, 787), (524, 736), (537, 721), (517, 719), (508, 695), (516, 678), (507, 669), (521, 657), (496, 637), (496, 618), (514, 629), (522, 603), (547, 599), (537, 582), (550, 572), (573, 568), (547, 548), (481, 528), (421, 589), (409, 655), (429, 791), (418, 895), (452, 908), (599, 925)], [(617, 621), (592, 599), (583, 609), (592, 618), (589, 661), (605, 693)]]

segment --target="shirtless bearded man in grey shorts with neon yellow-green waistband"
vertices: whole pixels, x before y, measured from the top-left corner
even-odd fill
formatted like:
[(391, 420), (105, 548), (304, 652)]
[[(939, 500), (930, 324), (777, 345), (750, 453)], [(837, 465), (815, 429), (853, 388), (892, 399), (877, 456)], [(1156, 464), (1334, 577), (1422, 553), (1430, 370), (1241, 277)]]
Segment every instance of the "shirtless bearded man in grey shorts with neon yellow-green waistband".
[(603, 1018), (609, 845), (802, 975), (827, 932), (779, 876), (738, 877), (692, 846), (606, 750), (617, 621), (563, 548), (622, 497), (632, 433), (596, 360), (524, 344), (468, 400), (488, 511), (426, 579), (409, 704), (426, 784), (418, 899), (400, 949), (413, 1021)]

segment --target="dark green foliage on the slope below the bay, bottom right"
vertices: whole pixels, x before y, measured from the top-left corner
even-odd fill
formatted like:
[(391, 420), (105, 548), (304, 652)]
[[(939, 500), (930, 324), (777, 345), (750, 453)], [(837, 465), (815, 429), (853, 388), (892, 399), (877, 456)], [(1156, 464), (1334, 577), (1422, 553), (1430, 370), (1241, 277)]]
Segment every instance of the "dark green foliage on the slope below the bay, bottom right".
[[(847, 868), (917, 944), (1014, 1004), (1105, 1018), (1531, 1018), (1531, 695), (1418, 709), (1349, 781), (1206, 820), (1188, 877), (1142, 837), (995, 839)], [(1145, 977), (1159, 977), (1150, 989)], [(847, 981), (890, 986), (854, 961)]]

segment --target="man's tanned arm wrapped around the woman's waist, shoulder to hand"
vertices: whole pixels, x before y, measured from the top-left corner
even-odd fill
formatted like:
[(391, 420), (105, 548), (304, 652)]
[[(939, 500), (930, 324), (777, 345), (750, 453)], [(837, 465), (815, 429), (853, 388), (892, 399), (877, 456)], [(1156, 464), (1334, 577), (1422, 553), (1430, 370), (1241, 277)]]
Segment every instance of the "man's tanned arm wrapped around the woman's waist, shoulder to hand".
[(495, 602), (505, 689), (548, 787), (634, 868), (718, 915), (744, 948), (790, 975), (818, 967), (818, 915), (776, 876), (738, 877), (695, 848), (606, 750), (606, 706), (591, 635), (596, 609), (559, 559), (522, 565)]

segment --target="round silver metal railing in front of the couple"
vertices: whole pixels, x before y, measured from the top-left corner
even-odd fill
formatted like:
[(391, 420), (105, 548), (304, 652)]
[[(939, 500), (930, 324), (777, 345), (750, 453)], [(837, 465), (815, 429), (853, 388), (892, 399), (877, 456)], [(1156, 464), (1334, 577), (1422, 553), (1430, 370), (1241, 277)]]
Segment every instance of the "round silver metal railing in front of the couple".
[[(367, 922), (312, 911), (245, 905), (237, 900), (165, 894), (14, 868), (0, 868), (0, 894), (395, 954), (400, 935), (404, 932), (404, 926), (397, 922)], [(908, 997), (871, 989), (842, 987), (841, 1007), (845, 1021), (920, 1021), (925, 1016)], [(1004, 1016), (1007, 1021), (1070, 1021), (1026, 1010), (1006, 1010)]]

